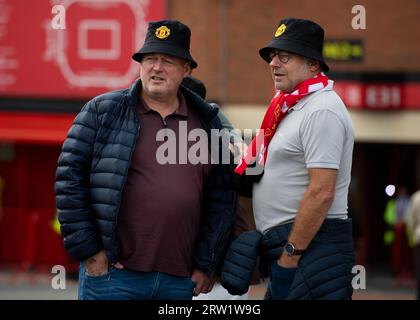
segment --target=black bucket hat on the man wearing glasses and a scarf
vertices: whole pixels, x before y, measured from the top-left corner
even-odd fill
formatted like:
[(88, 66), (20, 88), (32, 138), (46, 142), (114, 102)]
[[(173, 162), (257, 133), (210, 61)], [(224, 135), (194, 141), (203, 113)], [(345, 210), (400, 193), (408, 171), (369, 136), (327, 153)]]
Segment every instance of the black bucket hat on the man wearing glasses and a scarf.
[(285, 18), (280, 20), (273, 40), (262, 48), (261, 58), (270, 62), (270, 51), (279, 49), (301, 56), (318, 60), (324, 72), (330, 68), (324, 61), (322, 49), (324, 46), (324, 30), (313, 21)]

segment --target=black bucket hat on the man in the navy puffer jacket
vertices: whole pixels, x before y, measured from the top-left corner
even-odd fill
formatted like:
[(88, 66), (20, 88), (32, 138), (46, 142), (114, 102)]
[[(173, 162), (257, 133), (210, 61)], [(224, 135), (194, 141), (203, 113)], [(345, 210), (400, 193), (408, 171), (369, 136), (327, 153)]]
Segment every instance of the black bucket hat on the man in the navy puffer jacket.
[(191, 68), (197, 68), (190, 54), (190, 38), (190, 28), (177, 20), (149, 22), (143, 47), (132, 58), (141, 62), (146, 53), (165, 53), (191, 61)]

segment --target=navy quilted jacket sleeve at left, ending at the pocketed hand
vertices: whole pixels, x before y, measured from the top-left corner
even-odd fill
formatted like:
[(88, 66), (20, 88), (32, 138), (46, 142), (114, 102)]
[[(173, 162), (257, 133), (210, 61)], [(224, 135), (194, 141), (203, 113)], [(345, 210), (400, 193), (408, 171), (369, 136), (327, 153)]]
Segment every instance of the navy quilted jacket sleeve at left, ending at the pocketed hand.
[(55, 193), (65, 249), (79, 261), (101, 250), (91, 213), (89, 179), (98, 130), (95, 100), (75, 118), (58, 159)]

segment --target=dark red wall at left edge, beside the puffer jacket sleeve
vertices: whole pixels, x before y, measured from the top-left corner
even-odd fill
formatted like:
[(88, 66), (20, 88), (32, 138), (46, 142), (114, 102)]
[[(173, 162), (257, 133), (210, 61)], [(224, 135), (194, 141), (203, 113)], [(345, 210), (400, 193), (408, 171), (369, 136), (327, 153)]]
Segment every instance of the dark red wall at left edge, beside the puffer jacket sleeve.
[[(4, 147), (3, 147), (4, 148)], [(22, 269), (75, 268), (54, 232), (54, 177), (60, 146), (12, 145), (11, 159), (0, 160), (4, 180), (0, 220), (0, 263)], [(3, 149), (4, 152), (4, 149)]]

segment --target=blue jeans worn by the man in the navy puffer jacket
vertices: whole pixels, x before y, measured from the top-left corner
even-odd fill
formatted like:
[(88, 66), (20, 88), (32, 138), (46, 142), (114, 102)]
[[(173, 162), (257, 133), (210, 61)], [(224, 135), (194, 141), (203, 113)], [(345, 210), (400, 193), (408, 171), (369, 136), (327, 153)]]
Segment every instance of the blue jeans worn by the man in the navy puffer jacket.
[(79, 300), (191, 300), (194, 287), (190, 277), (126, 268), (89, 276), (80, 264)]

